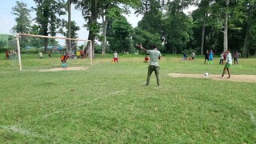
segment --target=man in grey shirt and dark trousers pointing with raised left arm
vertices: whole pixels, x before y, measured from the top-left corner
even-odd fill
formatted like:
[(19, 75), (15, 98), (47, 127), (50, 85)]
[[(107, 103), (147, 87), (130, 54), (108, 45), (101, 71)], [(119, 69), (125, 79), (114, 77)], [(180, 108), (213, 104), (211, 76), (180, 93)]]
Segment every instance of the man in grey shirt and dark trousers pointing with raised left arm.
[(147, 72), (147, 78), (146, 78), (146, 86), (149, 86), (150, 84), (150, 77), (152, 72), (154, 71), (155, 76), (157, 77), (157, 84), (160, 86), (160, 79), (159, 79), (159, 64), (158, 60), (161, 58), (161, 53), (158, 50), (157, 46), (153, 46), (154, 50), (146, 50), (142, 45), (138, 45), (138, 48), (141, 50), (146, 51), (147, 54), (150, 54), (150, 66), (148, 67), (148, 72)]

